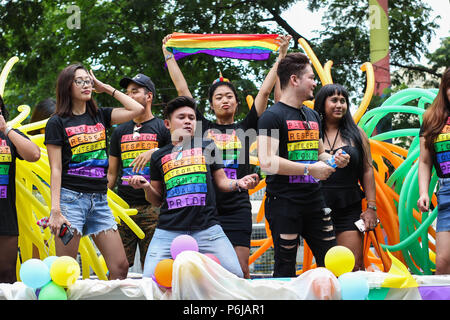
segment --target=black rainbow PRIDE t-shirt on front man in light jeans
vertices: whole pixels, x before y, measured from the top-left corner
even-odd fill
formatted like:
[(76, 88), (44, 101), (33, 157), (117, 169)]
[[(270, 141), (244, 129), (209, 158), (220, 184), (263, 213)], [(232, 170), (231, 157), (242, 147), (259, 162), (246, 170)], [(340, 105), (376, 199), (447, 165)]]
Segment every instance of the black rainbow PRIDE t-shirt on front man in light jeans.
[(152, 155), (150, 176), (164, 191), (158, 228), (204, 230), (218, 223), (211, 174), (223, 165), (215, 159), (214, 143), (200, 142), (170, 143)]

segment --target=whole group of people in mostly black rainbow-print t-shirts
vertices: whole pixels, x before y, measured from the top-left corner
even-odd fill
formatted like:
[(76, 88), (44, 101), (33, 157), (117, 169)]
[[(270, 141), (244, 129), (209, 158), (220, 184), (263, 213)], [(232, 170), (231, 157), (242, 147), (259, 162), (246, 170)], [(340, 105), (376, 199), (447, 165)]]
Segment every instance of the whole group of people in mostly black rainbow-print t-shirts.
[[(124, 279), (139, 247), (143, 276), (151, 277), (157, 263), (171, 257), (173, 239), (188, 234), (200, 252), (214, 254), (225, 269), (250, 278), (247, 190), (260, 180), (250, 165), (250, 145), (257, 141), (260, 168), (267, 174), (264, 206), (274, 243), (273, 276), (296, 275), (300, 237), (317, 266), (325, 265), (331, 247), (343, 245), (355, 255), (354, 270), (364, 270), (364, 232), (355, 222), (362, 219), (366, 231), (377, 226), (376, 187), (369, 139), (353, 121), (347, 90), (330, 84), (314, 96), (317, 83), (308, 57), (288, 53), (291, 37), (280, 36), (278, 58), (244, 119), (235, 120), (238, 94), (220, 74), (209, 88), (216, 119), (210, 121), (166, 49), (169, 39), (162, 41), (162, 54), (178, 96), (165, 106), (163, 119), (153, 115), (156, 87), (147, 75), (124, 77), (119, 83), (124, 93), (81, 64), (60, 72), (56, 103), (41, 132), (51, 170), (49, 227), (55, 235), (64, 225), (73, 233), (68, 243), (55, 237), (56, 254), (76, 258), (81, 237), (91, 236), (109, 279)], [(275, 103), (268, 108), (274, 89)], [(99, 108), (93, 91), (111, 95), (121, 107)], [(314, 110), (303, 104), (312, 99)], [(421, 211), (430, 209), (433, 166), (439, 176), (436, 274), (450, 273), (449, 99), (447, 69), (420, 133)], [(1, 98), (0, 106), (0, 282), (13, 283), (19, 232), (15, 159), (37, 161), (40, 149), (7, 126)], [(107, 129), (115, 124), (108, 137)], [(116, 185), (119, 196), (137, 210), (132, 219), (144, 239), (116, 224), (106, 197)]]

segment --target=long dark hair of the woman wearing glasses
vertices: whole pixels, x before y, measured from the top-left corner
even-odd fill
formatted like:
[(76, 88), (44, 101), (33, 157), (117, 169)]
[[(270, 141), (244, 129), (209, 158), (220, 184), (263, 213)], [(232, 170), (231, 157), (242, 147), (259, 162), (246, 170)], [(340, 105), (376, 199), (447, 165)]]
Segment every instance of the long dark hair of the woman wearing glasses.
[[(75, 72), (78, 69), (87, 69), (80, 63), (71, 64), (65, 67), (59, 74), (56, 81), (56, 110), (60, 117), (72, 117), (72, 83), (75, 79)], [(88, 72), (89, 73), (89, 72)], [(86, 109), (94, 117), (98, 112), (97, 103), (93, 98), (86, 102)]]

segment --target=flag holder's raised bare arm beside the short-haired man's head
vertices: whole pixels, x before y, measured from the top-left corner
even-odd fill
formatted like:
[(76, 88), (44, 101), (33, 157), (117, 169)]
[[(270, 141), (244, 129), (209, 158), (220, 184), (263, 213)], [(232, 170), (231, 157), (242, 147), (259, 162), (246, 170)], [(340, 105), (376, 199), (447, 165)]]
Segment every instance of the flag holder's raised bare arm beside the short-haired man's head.
[(270, 93), (272, 92), (273, 87), (278, 78), (277, 77), (278, 63), (281, 61), (281, 59), (283, 59), (286, 56), (289, 47), (289, 41), (291, 39), (292, 39), (291, 35), (279, 36), (277, 38), (280, 44), (278, 58), (275, 61), (272, 68), (270, 69), (266, 78), (264, 79), (264, 82), (262, 83), (261, 88), (259, 89), (258, 94), (255, 97), (255, 108), (256, 112), (258, 113), (258, 117), (261, 116), (261, 114), (267, 108), (267, 102), (269, 101)]

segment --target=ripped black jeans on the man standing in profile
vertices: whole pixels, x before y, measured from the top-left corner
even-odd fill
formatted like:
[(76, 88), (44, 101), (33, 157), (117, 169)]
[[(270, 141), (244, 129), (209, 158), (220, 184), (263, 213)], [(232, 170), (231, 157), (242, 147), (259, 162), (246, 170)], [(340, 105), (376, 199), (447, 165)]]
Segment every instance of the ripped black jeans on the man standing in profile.
[[(325, 254), (336, 245), (331, 210), (305, 211), (289, 199), (276, 196), (267, 196), (264, 205), (274, 244), (273, 277), (295, 277), (299, 236), (308, 243), (317, 266), (324, 267)], [(295, 234), (295, 239), (281, 236)]]

